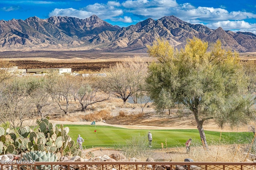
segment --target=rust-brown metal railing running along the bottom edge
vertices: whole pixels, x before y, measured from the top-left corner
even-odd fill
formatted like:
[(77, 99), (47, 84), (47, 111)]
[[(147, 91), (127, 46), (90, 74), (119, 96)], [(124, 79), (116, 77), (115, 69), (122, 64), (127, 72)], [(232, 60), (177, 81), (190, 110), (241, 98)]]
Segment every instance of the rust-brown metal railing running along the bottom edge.
[(256, 170), (256, 162), (33, 162), (0, 163), (0, 167), (1, 170)]

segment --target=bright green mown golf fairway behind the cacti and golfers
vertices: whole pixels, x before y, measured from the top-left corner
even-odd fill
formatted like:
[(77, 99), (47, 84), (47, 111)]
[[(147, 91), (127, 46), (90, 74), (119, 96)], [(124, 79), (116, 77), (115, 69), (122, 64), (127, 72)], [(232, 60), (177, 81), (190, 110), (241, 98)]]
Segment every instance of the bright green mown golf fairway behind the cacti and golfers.
[[(78, 134), (84, 139), (83, 146), (92, 147), (115, 147), (116, 145), (127, 145), (126, 141), (134, 136), (140, 136), (148, 141), (148, 131), (145, 129), (124, 129), (112, 126), (95, 125), (64, 125), (69, 127), (69, 135), (76, 142)], [(96, 130), (96, 132), (95, 132)], [(191, 138), (193, 145), (202, 145), (200, 135), (197, 129), (175, 129), (175, 130), (150, 130), (152, 133), (152, 147), (184, 147), (186, 141)], [(220, 132), (205, 131), (208, 145), (216, 144), (238, 144), (250, 143), (246, 139), (252, 139), (253, 133), (249, 132)], [(167, 145), (167, 146), (166, 146)]]

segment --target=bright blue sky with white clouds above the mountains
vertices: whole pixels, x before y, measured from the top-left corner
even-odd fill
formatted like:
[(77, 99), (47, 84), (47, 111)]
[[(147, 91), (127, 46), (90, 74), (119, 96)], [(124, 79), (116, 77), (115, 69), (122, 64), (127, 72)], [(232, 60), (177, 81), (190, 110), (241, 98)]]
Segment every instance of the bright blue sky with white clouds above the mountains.
[(256, 34), (256, 0), (1, 0), (0, 20), (37, 16), (70, 16), (80, 19), (92, 15), (127, 27), (139, 21), (174, 15), (189, 23), (211, 29), (222, 27), (234, 32)]

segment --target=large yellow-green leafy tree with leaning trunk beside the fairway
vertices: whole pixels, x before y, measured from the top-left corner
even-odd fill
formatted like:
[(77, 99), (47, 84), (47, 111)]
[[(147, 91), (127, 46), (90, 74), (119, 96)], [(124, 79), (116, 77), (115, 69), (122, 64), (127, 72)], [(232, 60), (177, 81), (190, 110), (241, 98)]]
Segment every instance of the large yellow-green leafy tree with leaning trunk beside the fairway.
[[(250, 97), (243, 92), (242, 66), (238, 53), (223, 49), (217, 41), (207, 42), (194, 37), (188, 39), (184, 49), (174, 50), (158, 39), (148, 46), (148, 53), (158, 62), (149, 66), (146, 80), (150, 97), (157, 107), (166, 107), (162, 101), (183, 104), (194, 114), (203, 146), (208, 149), (203, 124), (214, 119), (220, 127), (231, 127), (250, 120)], [(163, 94), (166, 97), (162, 97)]]

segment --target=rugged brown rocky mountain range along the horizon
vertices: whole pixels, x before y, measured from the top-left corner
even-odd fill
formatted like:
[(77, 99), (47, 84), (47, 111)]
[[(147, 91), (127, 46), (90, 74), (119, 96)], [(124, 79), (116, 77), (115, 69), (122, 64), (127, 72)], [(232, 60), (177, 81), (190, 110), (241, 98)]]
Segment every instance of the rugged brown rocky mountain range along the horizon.
[(188, 38), (198, 37), (240, 53), (256, 52), (256, 35), (250, 32), (210, 29), (191, 24), (175, 16), (151, 18), (136, 25), (119, 27), (93, 15), (86, 19), (52, 16), (26, 20), (0, 20), (0, 51), (11, 49), (72, 49), (106, 52), (146, 53), (146, 45), (161, 37), (175, 48), (182, 48)]

